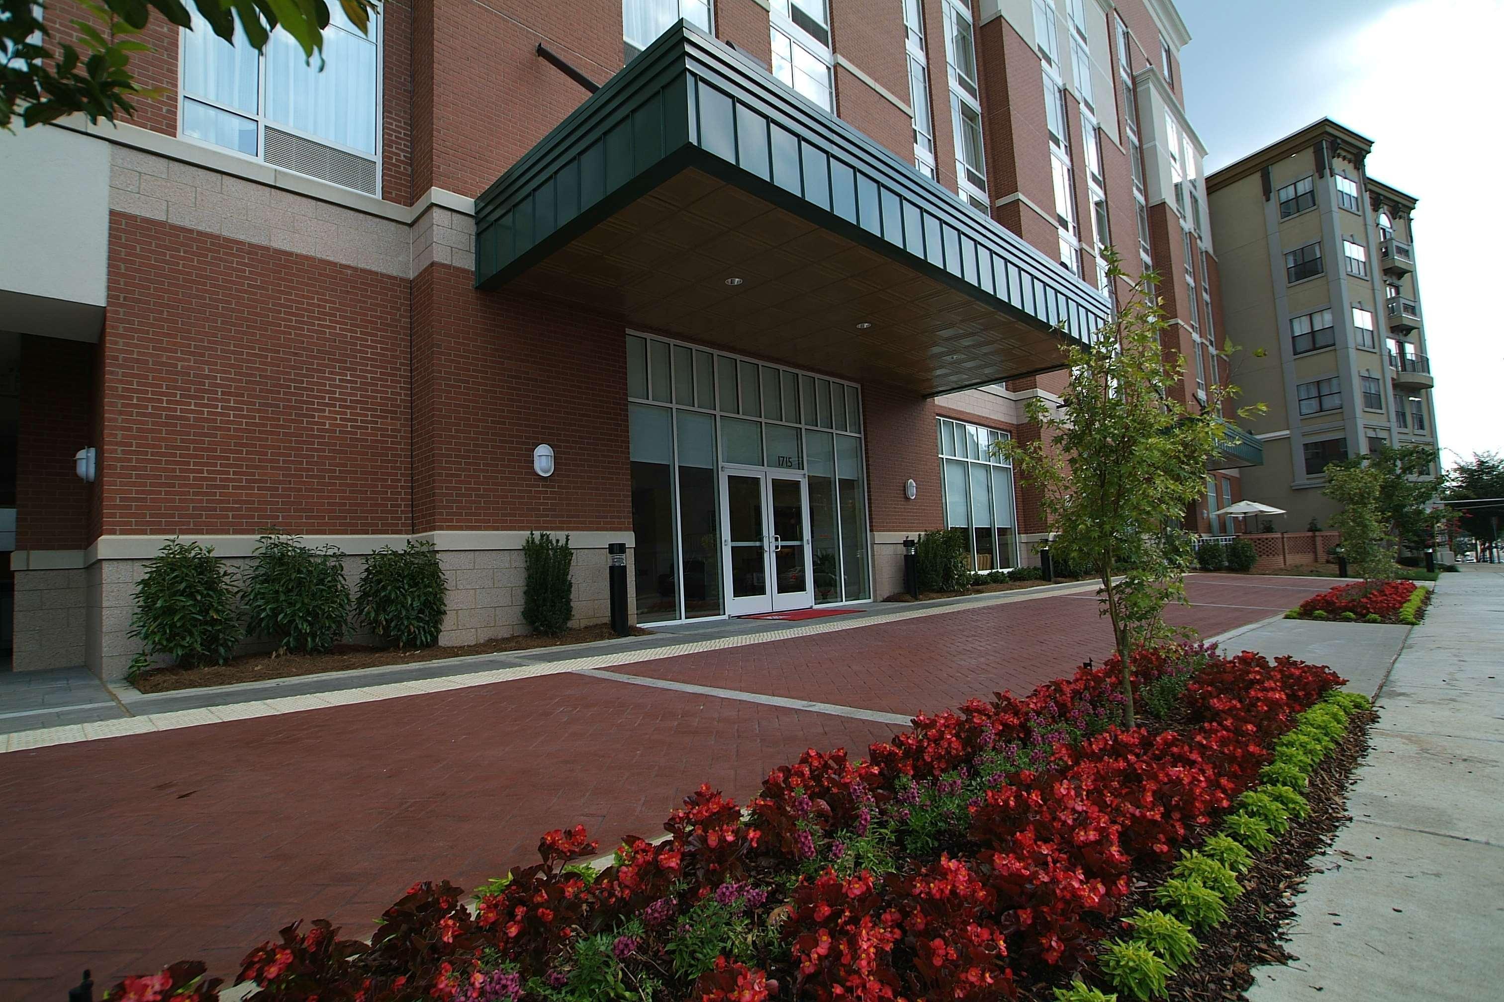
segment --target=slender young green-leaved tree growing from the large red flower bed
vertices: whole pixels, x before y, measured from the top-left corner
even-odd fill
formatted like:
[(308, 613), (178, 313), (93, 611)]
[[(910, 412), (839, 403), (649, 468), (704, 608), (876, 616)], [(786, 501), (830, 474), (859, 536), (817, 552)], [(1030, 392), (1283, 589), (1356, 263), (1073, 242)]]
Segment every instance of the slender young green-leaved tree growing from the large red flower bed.
[[(1116, 254), (1108, 251), (1107, 260), (1117, 288), (1126, 275)], [(1027, 404), (1041, 437), (997, 446), (1042, 493), (1051, 551), (1101, 581), (1099, 611), (1111, 620), (1130, 727), (1130, 655), (1170, 635), (1164, 607), (1187, 601), (1182, 577), (1193, 551), (1181, 521), (1205, 496), (1206, 464), (1226, 437), (1221, 401), (1236, 392), (1208, 386), (1209, 400), (1197, 413), (1175, 400), (1185, 359), (1172, 353), (1167, 361), (1161, 347), (1169, 323), (1149, 291), (1154, 282), (1145, 273), (1090, 344), (1066, 349), (1071, 382), (1063, 406), (1038, 397)]]

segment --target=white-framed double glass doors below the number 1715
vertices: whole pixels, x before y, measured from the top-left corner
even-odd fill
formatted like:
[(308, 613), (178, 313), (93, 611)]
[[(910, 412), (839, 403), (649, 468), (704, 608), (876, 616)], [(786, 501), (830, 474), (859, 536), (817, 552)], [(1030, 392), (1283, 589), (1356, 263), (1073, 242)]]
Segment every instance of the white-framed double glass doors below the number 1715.
[(809, 493), (805, 478), (766, 470), (722, 473), (726, 613), (809, 608)]

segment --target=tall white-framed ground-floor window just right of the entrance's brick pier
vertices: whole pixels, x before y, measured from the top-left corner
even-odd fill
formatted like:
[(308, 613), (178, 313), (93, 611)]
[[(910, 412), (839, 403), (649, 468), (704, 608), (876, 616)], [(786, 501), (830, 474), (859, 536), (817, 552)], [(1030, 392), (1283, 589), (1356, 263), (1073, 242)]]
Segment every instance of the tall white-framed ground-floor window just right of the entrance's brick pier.
[(938, 419), (940, 476), (945, 484), (945, 524), (972, 536), (972, 569), (1017, 566), (1014, 470), (994, 452), (1006, 431), (964, 421)]

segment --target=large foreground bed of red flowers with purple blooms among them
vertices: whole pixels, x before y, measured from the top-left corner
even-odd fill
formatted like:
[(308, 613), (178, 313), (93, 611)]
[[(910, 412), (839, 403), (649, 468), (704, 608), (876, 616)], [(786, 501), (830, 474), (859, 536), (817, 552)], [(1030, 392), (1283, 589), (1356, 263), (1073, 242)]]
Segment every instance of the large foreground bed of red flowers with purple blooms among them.
[[(1119, 675), (1108, 661), (1027, 699), (919, 717), (869, 762), (806, 751), (744, 811), (701, 787), (666, 841), (627, 838), (594, 879), (569, 865), (597, 852), (584, 828), (549, 832), (541, 862), (513, 868), (474, 913), (459, 888), (417, 883), (368, 945), (295, 922), (238, 982), (256, 982), (257, 1002), (572, 1002), (606, 997), (602, 978), (609, 997), (665, 1002), (1014, 996), (1021, 979), (1074, 970), (1134, 868), (1229, 810), (1295, 715), (1342, 684), (1287, 658), (1146, 652), (1136, 687), (1184, 681), (1187, 723), (1125, 732)], [(717, 921), (741, 931), (684, 966), (684, 943)], [(111, 997), (190, 985), (211, 1002), (218, 982), (202, 973), (174, 964)]]

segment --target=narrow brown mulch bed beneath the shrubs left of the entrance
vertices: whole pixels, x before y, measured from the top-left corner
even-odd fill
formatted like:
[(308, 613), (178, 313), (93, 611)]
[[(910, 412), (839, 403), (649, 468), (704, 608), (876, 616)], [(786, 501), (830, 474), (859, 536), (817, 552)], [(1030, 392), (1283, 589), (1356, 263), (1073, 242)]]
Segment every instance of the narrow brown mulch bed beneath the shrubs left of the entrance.
[[(645, 637), (648, 632), (651, 631), (632, 628), (633, 637)], [(471, 643), (459, 647), (423, 647), (421, 650), (341, 643), (335, 644), (328, 653), (248, 653), (232, 658), (226, 664), (209, 664), (197, 669), (153, 669), (134, 679), (132, 684), (141, 693), (171, 693), (176, 690), (197, 690), (208, 685), (268, 682), (271, 679), (290, 679), (299, 675), (358, 672), (359, 669), (379, 669), (391, 664), (420, 664), (444, 658), (468, 658), (477, 653), (534, 650), (537, 647), (561, 647), (572, 643), (594, 643), (597, 640), (615, 638), (617, 634), (611, 626), (602, 623), (570, 629), (561, 637), (520, 634), (517, 637), (487, 640), (486, 643)]]

